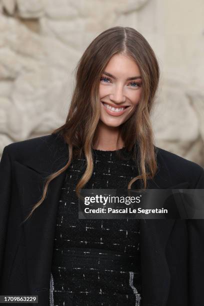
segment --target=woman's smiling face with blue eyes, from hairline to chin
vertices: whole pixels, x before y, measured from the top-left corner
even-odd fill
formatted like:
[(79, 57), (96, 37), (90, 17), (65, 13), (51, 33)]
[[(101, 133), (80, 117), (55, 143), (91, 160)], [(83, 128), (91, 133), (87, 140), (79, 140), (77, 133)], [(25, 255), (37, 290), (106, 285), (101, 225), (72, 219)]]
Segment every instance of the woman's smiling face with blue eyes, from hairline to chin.
[(138, 65), (127, 55), (113, 55), (100, 77), (100, 121), (118, 127), (133, 114), (140, 96)]

